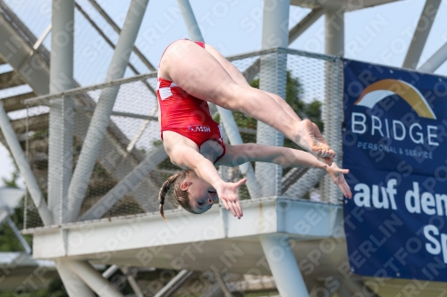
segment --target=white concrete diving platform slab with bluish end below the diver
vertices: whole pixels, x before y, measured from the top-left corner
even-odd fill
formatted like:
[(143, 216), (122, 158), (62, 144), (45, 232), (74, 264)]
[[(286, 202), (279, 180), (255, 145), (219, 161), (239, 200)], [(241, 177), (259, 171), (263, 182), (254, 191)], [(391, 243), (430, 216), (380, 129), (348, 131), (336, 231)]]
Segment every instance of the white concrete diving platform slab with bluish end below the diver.
[[(285, 197), (240, 204), (241, 219), (215, 205), (200, 216), (166, 210), (167, 222), (151, 212), (23, 232), (34, 236), (33, 256), (46, 260), (271, 275), (259, 238), (280, 235), (289, 240), (303, 276), (333, 276), (347, 263), (341, 206)], [(283, 254), (280, 245), (271, 252)]]

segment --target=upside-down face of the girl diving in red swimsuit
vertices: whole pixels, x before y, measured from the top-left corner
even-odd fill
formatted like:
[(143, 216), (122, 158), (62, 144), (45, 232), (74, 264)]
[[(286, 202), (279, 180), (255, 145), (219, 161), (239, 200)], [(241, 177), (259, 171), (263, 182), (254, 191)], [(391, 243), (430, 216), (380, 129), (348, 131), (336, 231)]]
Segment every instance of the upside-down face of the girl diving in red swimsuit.
[(197, 213), (209, 210), (217, 199), (215, 188), (198, 177), (195, 172), (191, 172), (181, 183), (181, 190), (189, 193), (190, 206)]

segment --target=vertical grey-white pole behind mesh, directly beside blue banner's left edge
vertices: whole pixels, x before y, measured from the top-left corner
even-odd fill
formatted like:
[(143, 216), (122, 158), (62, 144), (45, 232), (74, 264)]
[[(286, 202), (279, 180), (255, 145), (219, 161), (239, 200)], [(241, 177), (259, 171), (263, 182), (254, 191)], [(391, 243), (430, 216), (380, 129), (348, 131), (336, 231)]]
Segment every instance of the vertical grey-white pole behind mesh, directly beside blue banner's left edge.
[[(344, 54), (344, 12), (328, 11), (325, 13), (325, 54)], [(342, 67), (341, 62), (325, 62), (325, 105), (323, 120), (325, 139), (337, 155), (334, 161), (339, 164), (342, 156)], [(339, 164), (341, 165), (341, 164)], [(340, 196), (338, 187), (331, 177), (325, 175), (320, 183), (322, 200), (337, 203)]]

